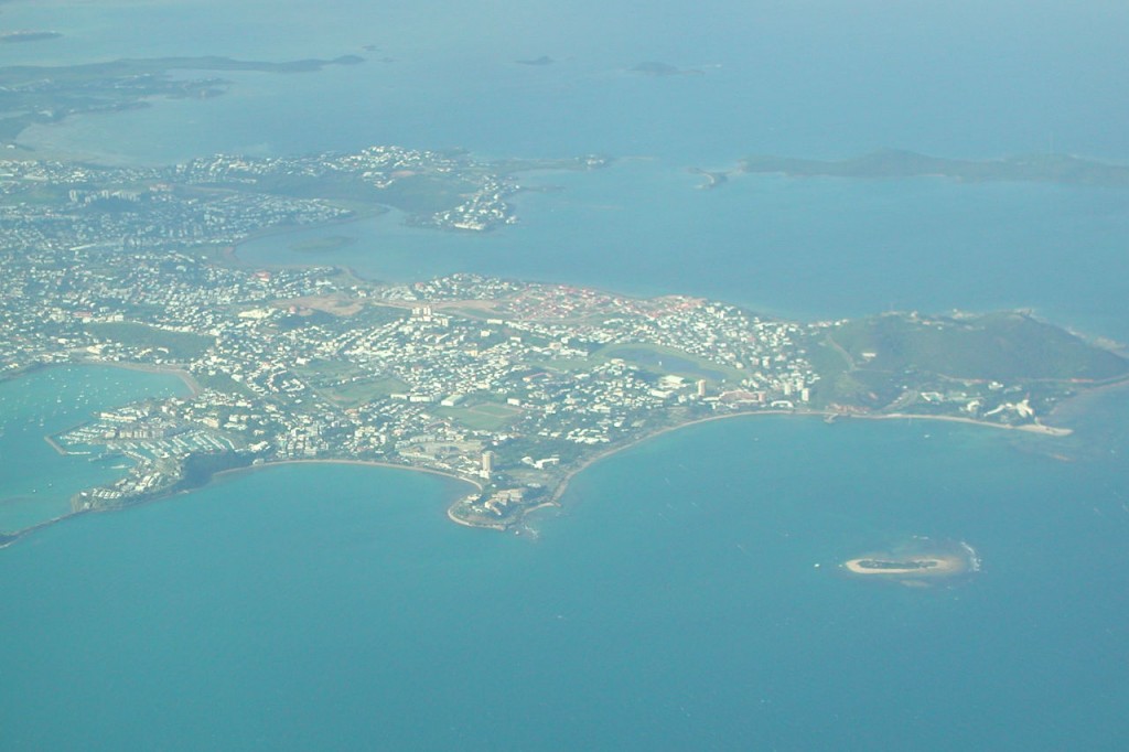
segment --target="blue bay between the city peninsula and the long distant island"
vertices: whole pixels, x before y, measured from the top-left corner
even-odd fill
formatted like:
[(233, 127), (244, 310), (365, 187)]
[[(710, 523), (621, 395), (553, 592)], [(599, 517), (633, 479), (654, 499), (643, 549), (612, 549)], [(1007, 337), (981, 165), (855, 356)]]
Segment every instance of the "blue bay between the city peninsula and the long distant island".
[[(685, 294), (791, 318), (883, 311), (1035, 308), (1129, 340), (1129, 191), (944, 178), (702, 178), (662, 159), (596, 173), (541, 173), (520, 224), (489, 234), (403, 226), (388, 213), (262, 237), (248, 265), (341, 264), (379, 280), (450, 272)], [(310, 254), (296, 245), (345, 236)]]

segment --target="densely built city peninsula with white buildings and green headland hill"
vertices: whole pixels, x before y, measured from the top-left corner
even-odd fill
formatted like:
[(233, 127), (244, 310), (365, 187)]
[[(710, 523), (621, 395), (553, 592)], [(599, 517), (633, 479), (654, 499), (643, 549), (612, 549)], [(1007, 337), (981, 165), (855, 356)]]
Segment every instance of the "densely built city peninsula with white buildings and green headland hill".
[(1064, 399), (1126, 377), (1118, 355), (1017, 312), (796, 323), (472, 274), (377, 285), (338, 268), (252, 269), (234, 252), (386, 206), (488, 230), (515, 221), (515, 170), (603, 164), (499, 167), (396, 147), (161, 168), (0, 161), (0, 377), (112, 364), (192, 386), (46, 437), (131, 461), (75, 511), (235, 467), (352, 460), (465, 479), (476, 490), (450, 517), (499, 528), (554, 504), (594, 457), (694, 420), (913, 414), (1054, 432), (1043, 421)]

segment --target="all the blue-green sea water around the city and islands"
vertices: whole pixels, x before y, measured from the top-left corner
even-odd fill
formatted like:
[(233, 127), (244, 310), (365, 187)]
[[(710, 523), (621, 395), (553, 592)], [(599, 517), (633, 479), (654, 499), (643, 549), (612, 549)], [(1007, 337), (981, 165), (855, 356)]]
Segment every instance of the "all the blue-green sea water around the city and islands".
[[(1129, 161), (1126, 8), (778, 5), (14, 2), (11, 28), (67, 36), (2, 45), (0, 62), (373, 59), (26, 133), (42, 150), (621, 157), (531, 176), (564, 190), (519, 196), (523, 222), (489, 236), (395, 216), (313, 230), (358, 239), (318, 262), (377, 278), (470, 270), (800, 318), (1023, 306), (1129, 339), (1122, 192), (699, 191), (685, 172), (879, 147)], [(558, 62), (513, 62), (542, 54)], [(627, 72), (646, 60), (704, 75)], [(308, 261), (294, 241), (242, 254)], [(41, 420), (169, 388), (88, 369), (0, 385), (0, 514), (25, 519), (49, 483), (107, 472), (60, 464)], [(0, 747), (1122, 749), (1129, 401), (1070, 420), (1060, 441), (921, 421), (698, 426), (577, 476), (535, 535), (452, 525), (458, 483), (330, 465), (84, 516), (0, 551)], [(913, 536), (965, 541), (983, 570), (920, 589), (834, 567)]]

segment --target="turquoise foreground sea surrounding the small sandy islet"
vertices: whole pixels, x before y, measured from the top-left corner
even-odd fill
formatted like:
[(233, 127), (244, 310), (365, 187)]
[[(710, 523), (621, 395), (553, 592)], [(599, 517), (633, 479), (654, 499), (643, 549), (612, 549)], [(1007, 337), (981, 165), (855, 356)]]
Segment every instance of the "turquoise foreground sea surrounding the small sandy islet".
[[(1118, 749), (1126, 467), (1045, 440), (720, 421), (522, 536), (340, 465), (77, 518), (2, 552), (5, 749)], [(913, 536), (982, 571), (838, 567)]]

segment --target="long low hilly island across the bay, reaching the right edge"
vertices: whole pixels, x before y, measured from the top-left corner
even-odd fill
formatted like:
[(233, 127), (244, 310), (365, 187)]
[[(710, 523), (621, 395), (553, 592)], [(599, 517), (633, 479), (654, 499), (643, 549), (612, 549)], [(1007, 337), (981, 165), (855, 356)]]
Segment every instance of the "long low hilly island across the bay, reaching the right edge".
[(948, 177), (969, 183), (1007, 181), (1070, 185), (1129, 186), (1129, 166), (1065, 154), (1033, 154), (1001, 159), (947, 159), (916, 151), (883, 149), (854, 159), (824, 161), (754, 156), (741, 160), (739, 173), (778, 173), (790, 177)]

